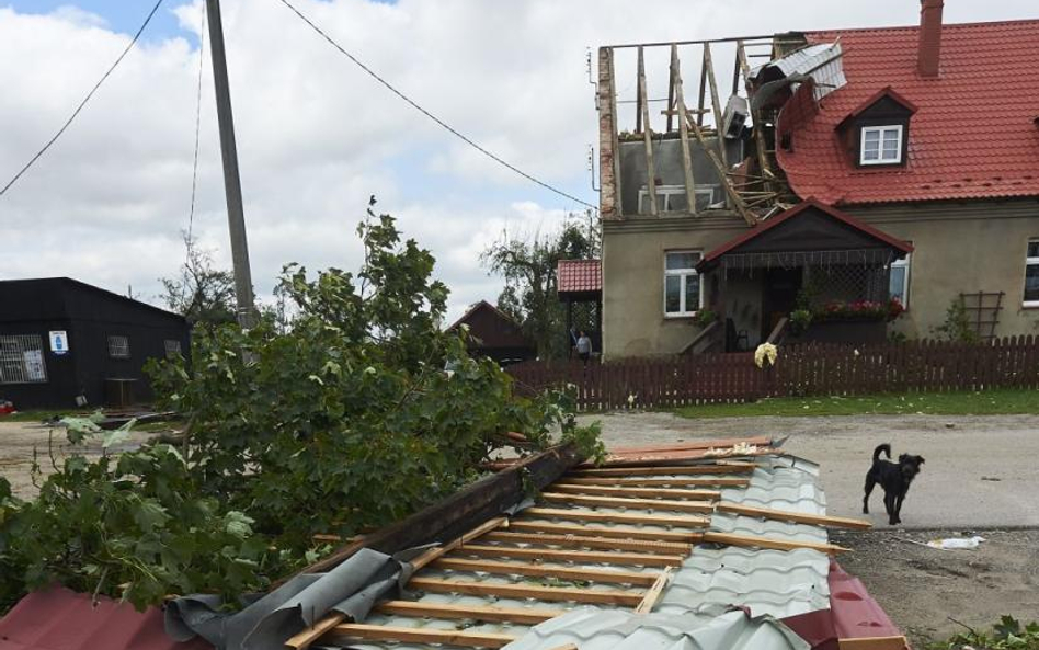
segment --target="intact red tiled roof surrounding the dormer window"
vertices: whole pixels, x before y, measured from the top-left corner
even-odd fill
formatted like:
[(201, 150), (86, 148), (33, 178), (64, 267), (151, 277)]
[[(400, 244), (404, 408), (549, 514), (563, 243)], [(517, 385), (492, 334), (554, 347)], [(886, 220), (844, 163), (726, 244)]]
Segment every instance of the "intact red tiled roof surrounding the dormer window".
[[(1039, 20), (945, 25), (937, 79), (916, 71), (917, 34), (889, 27), (807, 35), (812, 43), (841, 38), (848, 83), (793, 130), (793, 151), (778, 151), (793, 191), (845, 205), (1039, 196)], [(918, 109), (907, 164), (858, 169), (835, 128), (887, 87)]]

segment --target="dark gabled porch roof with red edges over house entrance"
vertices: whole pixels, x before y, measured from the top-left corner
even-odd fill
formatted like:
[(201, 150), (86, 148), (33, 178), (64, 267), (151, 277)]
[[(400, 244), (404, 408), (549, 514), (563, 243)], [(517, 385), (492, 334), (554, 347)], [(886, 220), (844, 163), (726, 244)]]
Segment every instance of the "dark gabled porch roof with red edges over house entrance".
[(696, 269), (709, 271), (721, 263), (726, 255), (752, 253), (755, 256), (789, 256), (798, 253), (796, 256), (802, 258), (804, 253), (827, 253), (826, 256), (832, 258), (833, 253), (853, 251), (884, 251), (895, 258), (904, 258), (913, 251), (913, 247), (847, 213), (809, 197), (708, 252)]

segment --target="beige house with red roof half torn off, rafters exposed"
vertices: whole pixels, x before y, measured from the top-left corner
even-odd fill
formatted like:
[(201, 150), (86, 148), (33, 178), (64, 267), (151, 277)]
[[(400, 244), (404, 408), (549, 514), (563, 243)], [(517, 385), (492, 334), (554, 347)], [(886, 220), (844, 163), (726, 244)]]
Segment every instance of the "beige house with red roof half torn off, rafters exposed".
[(1035, 333), (1039, 20), (941, 13), (600, 49), (607, 357)]

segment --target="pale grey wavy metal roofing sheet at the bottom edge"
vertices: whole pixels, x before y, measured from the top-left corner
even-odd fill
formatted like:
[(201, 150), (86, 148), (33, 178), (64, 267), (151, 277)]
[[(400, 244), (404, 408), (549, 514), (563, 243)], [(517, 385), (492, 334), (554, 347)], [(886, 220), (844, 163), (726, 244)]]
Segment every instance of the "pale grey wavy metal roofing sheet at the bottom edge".
[(808, 643), (772, 618), (729, 612), (709, 620), (620, 609), (581, 608), (545, 622), (505, 650), (807, 650)]

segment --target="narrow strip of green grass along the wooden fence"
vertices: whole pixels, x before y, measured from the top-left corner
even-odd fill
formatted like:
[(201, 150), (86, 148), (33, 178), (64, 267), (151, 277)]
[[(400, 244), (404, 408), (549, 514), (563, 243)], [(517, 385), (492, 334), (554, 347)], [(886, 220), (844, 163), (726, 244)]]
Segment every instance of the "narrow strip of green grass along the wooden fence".
[(1039, 390), (915, 392), (854, 397), (784, 397), (756, 402), (682, 407), (683, 418), (754, 415), (1011, 415), (1039, 413)]

